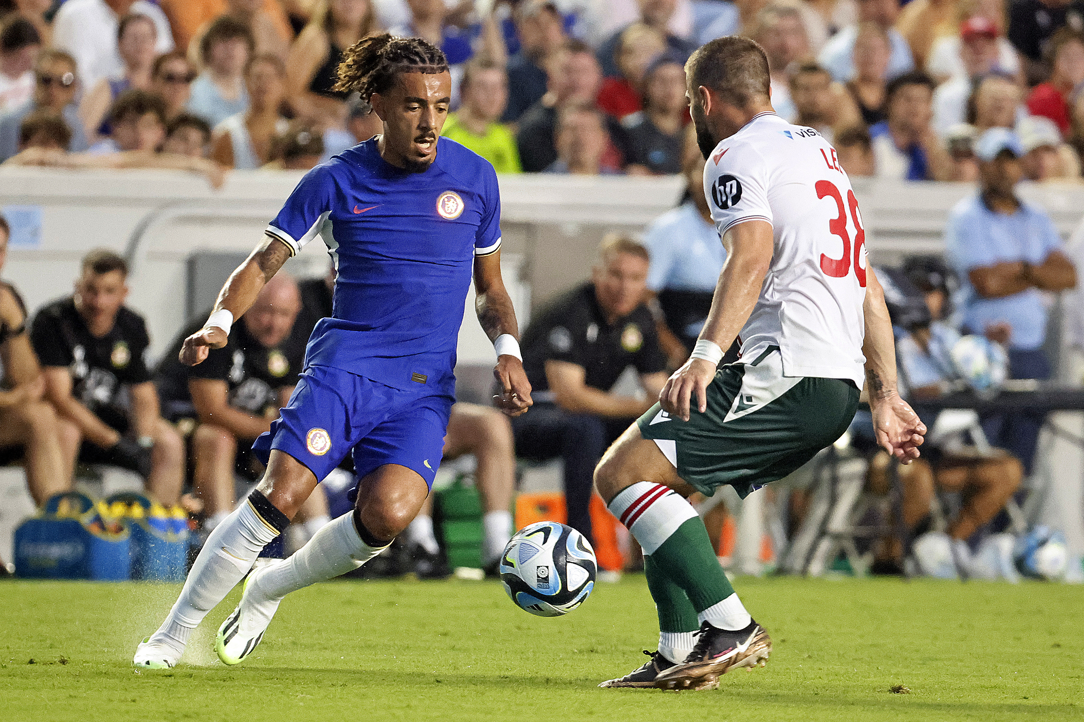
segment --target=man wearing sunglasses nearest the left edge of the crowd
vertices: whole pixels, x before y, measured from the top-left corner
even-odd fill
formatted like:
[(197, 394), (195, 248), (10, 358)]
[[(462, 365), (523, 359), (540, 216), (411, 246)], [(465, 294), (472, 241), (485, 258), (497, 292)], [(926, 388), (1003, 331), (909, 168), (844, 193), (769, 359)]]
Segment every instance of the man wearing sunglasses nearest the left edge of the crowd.
[(36, 110), (49, 110), (64, 118), (72, 131), (67, 149), (87, 149), (87, 134), (75, 103), (76, 67), (70, 55), (61, 50), (46, 50), (38, 56), (34, 77), (34, 96), (22, 106), (0, 116), (0, 161), (18, 153), (20, 127)]

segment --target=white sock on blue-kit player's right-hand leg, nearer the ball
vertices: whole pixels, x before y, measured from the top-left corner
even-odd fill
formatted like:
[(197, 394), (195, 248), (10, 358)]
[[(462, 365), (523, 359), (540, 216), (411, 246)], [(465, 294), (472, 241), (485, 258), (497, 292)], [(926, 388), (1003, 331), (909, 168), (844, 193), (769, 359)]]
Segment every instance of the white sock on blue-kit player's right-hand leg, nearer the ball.
[(291, 557), (260, 569), (248, 585), (248, 593), (254, 595), (254, 602), (258, 602), (257, 595), (268, 601), (279, 600), (356, 569), (385, 549), (387, 546), (373, 548), (362, 541), (353, 526), (353, 512), (348, 512), (317, 531)]

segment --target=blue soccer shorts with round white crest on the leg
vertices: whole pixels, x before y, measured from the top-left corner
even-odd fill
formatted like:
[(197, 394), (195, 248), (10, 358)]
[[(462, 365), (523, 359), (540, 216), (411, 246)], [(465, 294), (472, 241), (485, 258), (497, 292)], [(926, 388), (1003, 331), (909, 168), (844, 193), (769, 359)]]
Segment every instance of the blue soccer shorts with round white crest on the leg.
[(271, 449), (285, 451), (323, 481), (352, 451), (358, 478), (396, 463), (433, 488), (454, 401), (422, 385), (401, 391), (341, 369), (310, 366), (253, 452), (266, 464)]

